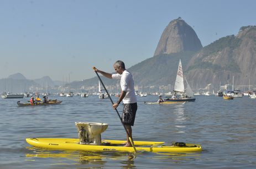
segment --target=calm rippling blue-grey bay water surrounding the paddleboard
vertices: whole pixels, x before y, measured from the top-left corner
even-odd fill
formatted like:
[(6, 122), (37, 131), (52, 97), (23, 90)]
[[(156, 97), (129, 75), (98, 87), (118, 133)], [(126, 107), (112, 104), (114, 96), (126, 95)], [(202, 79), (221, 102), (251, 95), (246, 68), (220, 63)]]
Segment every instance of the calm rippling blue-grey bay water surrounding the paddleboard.
[[(193, 154), (56, 151), (34, 148), (25, 138), (78, 138), (75, 122), (108, 123), (102, 139), (126, 139), (109, 99), (50, 96), (61, 105), (18, 107), (0, 99), (0, 168), (255, 168), (256, 100), (197, 96), (184, 105), (145, 105), (138, 97), (133, 139), (201, 144)], [(112, 97), (114, 101), (116, 97)], [(121, 107), (118, 110), (121, 114)]]

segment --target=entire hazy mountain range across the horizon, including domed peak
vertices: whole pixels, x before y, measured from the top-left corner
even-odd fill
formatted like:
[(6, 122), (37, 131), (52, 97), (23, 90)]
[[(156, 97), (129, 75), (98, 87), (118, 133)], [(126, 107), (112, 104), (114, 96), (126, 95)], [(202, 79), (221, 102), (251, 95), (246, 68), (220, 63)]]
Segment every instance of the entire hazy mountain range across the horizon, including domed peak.
[[(173, 88), (177, 66), (181, 59), (184, 75), (194, 88), (213, 84), (220, 86), (232, 84), (237, 88), (256, 84), (256, 26), (243, 26), (238, 34), (222, 37), (210, 45), (202, 47), (196, 32), (181, 18), (174, 19), (163, 31), (153, 57), (128, 68), (133, 74), (134, 82), (139, 90), (159, 91), (164, 86)], [(234, 77), (234, 78), (233, 78)], [(61, 85), (49, 77), (27, 80), (22, 74), (10, 75), (0, 79), (0, 90), (10, 79), (15, 85), (28, 88), (29, 85), (47, 88)], [(23, 82), (22, 82), (23, 80)], [(117, 80), (102, 77), (108, 89), (118, 88)], [(4, 82), (5, 81), (5, 82)], [(23, 85), (22, 85), (23, 83)], [(14, 85), (14, 82), (12, 82)], [(24, 87), (27, 86), (27, 87)], [(72, 89), (96, 90), (98, 78), (73, 81)], [(16, 86), (17, 88), (17, 86)], [(26, 89), (27, 90), (27, 89)]]

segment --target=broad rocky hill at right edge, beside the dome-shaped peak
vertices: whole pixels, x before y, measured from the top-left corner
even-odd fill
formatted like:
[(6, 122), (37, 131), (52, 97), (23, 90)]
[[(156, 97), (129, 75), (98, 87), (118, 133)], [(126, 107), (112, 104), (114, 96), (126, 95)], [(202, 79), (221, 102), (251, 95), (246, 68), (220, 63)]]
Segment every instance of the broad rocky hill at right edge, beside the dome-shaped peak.
[[(236, 36), (226, 36), (203, 47), (187, 65), (192, 84), (249, 85), (256, 83), (256, 26), (244, 26)], [(241, 86), (242, 87), (242, 86)]]

